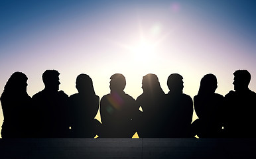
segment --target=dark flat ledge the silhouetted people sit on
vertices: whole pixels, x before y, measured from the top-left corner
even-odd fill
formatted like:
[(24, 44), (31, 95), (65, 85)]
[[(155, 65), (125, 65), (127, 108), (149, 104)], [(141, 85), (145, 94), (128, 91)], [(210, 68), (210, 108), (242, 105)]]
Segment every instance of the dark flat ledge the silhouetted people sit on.
[(256, 158), (255, 138), (1, 138), (0, 158)]

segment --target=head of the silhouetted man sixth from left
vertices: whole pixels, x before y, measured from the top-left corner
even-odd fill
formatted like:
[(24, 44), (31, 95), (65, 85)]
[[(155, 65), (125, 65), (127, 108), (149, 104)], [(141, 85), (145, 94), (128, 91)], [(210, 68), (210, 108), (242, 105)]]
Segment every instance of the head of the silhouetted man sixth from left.
[(170, 74), (167, 79), (167, 85), (170, 89), (170, 92), (173, 93), (182, 93), (183, 92), (183, 80), (180, 74)]

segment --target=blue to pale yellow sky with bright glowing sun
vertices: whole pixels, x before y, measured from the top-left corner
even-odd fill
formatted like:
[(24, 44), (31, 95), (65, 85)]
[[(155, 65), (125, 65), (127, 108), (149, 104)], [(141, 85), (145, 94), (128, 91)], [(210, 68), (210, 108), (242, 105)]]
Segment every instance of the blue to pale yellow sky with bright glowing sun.
[(41, 77), (48, 69), (60, 72), (60, 90), (68, 95), (77, 93), (76, 77), (88, 74), (101, 98), (115, 73), (125, 76), (125, 92), (134, 99), (143, 93), (146, 74), (156, 74), (165, 93), (168, 76), (182, 75), (183, 92), (193, 98), (200, 79), (211, 73), (218, 79), (216, 93), (225, 95), (233, 90), (235, 70), (248, 70), (249, 88), (256, 91), (255, 5), (253, 0), (1, 0), (0, 93), (19, 71), (29, 78), (32, 97), (44, 89)]

